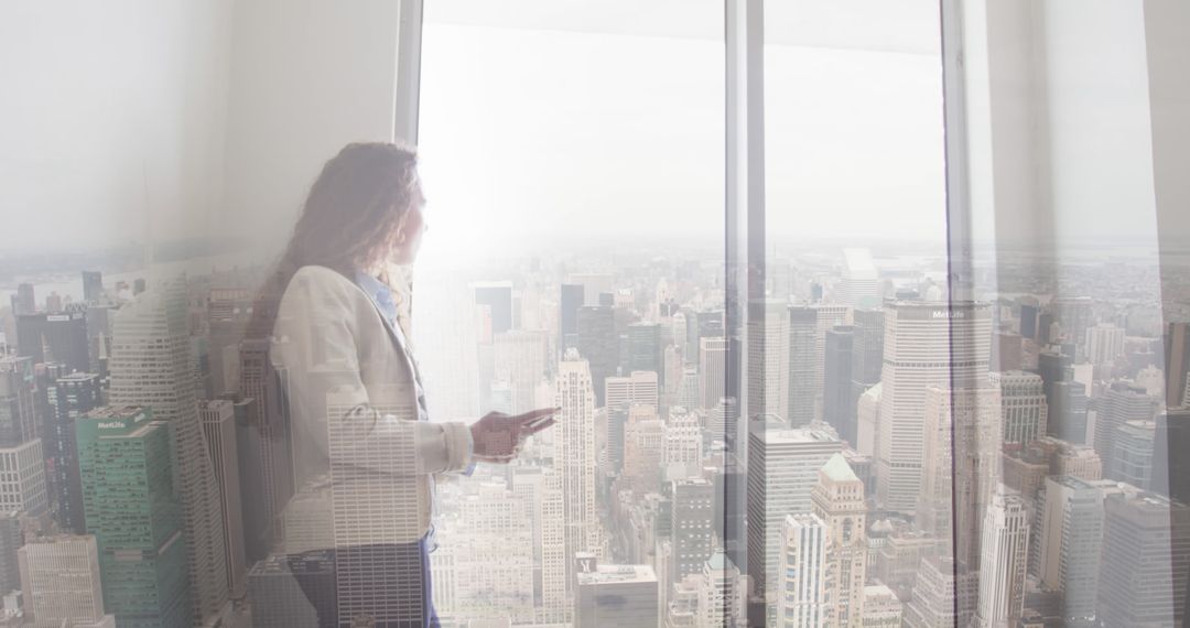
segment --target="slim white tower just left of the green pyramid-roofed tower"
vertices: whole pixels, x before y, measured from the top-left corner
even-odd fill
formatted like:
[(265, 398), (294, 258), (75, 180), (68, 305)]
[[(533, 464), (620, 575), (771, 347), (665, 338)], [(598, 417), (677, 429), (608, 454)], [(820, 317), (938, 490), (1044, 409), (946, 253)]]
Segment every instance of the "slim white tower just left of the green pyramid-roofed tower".
[[(826, 523), (813, 514), (787, 515), (781, 528), (776, 626), (828, 626)], [(833, 591), (832, 591), (833, 592)]]

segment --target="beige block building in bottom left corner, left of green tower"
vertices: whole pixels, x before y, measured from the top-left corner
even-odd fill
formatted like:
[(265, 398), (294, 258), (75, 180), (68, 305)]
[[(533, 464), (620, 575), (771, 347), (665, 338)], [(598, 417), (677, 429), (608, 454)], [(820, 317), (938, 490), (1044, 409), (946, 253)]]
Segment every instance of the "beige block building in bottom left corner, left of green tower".
[(75, 626), (104, 618), (95, 538), (43, 536), (17, 552), (25, 617), (37, 627)]

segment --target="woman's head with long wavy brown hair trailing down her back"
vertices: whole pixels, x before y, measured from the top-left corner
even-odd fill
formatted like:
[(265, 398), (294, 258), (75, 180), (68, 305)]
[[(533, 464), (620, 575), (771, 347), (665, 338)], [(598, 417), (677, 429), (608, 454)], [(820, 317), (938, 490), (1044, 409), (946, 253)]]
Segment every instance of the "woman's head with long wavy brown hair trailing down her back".
[(386, 260), (409, 209), (420, 202), (416, 168), (416, 151), (387, 142), (347, 144), (326, 162), (275, 271), (261, 287), (245, 337), (273, 333), (281, 295), (302, 266), (327, 266), (346, 277), (378, 269), (382, 281), (395, 283)]

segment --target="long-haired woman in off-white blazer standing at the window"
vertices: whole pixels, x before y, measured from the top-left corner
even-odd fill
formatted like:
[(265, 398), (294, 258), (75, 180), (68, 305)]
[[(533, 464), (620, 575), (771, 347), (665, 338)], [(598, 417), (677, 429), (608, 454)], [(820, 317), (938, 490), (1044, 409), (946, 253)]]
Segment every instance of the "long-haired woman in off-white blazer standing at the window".
[(275, 313), (270, 356), (289, 407), (299, 490), (284, 548), (319, 626), (438, 626), (436, 478), (506, 463), (553, 422), (553, 409), (428, 421), (400, 278), (424, 206), (412, 150), (347, 145), (309, 191), (275, 278), (280, 303), (256, 312)]

